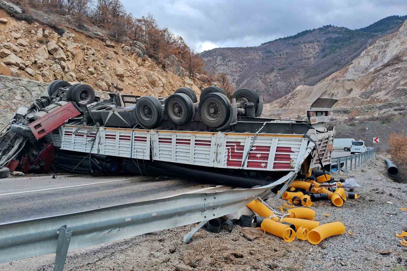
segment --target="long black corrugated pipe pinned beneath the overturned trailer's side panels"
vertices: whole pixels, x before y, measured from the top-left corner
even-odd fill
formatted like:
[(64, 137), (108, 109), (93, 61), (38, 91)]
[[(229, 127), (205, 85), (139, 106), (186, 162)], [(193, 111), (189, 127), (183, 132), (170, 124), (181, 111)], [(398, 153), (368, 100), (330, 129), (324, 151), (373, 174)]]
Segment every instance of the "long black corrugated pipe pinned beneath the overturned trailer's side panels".
[[(155, 168), (162, 168), (171, 173), (176, 173), (177, 175), (205, 179), (206, 181), (215, 181), (220, 184), (239, 186), (242, 188), (252, 188), (253, 186), (265, 186), (270, 184), (270, 181), (267, 180), (233, 176), (225, 173), (214, 173), (206, 170), (186, 168), (183, 166), (158, 161), (155, 161), (152, 166)], [(147, 165), (147, 167), (149, 167), (149, 165)]]

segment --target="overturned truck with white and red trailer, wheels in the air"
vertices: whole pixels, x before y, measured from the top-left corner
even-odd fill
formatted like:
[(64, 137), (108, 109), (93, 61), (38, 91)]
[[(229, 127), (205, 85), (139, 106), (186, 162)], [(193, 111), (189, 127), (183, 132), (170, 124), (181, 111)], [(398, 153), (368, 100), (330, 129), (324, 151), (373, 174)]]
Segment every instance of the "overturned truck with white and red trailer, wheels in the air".
[(109, 94), (53, 81), (48, 96), (20, 107), (0, 138), (0, 177), (9, 170), (193, 177), (239, 187), (266, 185), (330, 164), (334, 99), (318, 98), (307, 120), (261, 118), (263, 99), (219, 87), (199, 97)]

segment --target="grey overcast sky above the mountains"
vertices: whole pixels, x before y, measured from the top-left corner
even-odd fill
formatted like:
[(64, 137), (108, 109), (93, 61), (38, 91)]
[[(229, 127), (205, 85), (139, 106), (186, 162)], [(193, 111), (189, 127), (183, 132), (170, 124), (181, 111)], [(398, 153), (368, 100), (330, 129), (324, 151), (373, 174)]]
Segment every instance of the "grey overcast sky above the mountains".
[(333, 24), (350, 29), (406, 15), (407, 0), (122, 0), (135, 17), (153, 14), (160, 27), (201, 52), (258, 46)]

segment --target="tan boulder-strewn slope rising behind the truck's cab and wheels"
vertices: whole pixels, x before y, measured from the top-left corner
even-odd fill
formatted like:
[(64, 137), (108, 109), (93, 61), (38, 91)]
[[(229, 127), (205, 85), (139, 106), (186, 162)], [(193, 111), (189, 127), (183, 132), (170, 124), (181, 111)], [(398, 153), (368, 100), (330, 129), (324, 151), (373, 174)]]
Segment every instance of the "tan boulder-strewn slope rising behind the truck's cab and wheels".
[(36, 20), (29, 24), (11, 17), (10, 13), (22, 13), (15, 5), (0, 0), (1, 7), (9, 13), (0, 9), (0, 74), (41, 82), (61, 79), (87, 83), (96, 91), (155, 96), (168, 96), (182, 86), (199, 94), (217, 84), (206, 75), (187, 76), (174, 56), (159, 65), (144, 55), (140, 42), (116, 43), (89, 27), (81, 31), (64, 26), (59, 35), (55, 27), (46, 25), (50, 23)]

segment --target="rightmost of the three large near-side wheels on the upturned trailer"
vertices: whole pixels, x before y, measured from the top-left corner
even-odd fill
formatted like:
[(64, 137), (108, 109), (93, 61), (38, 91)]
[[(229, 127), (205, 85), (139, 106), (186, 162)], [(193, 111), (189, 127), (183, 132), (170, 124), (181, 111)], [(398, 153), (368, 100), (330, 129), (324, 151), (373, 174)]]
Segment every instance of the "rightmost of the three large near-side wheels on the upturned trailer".
[(208, 127), (218, 128), (229, 119), (232, 107), (228, 97), (221, 93), (209, 93), (199, 102), (199, 117)]

